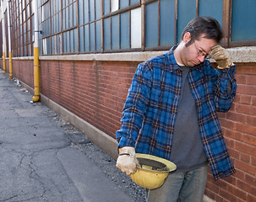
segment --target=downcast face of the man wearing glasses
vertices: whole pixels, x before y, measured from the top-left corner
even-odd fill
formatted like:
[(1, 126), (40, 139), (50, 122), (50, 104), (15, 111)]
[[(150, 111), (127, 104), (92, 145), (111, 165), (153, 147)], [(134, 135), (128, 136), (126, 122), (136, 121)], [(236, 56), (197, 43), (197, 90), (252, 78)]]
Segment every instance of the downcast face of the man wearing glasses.
[(204, 61), (205, 56), (210, 52), (211, 47), (217, 45), (215, 40), (205, 39), (204, 35), (202, 35), (199, 40), (194, 40), (191, 45), (186, 47), (185, 44), (188, 43), (189, 40), (191, 40), (190, 34), (184, 35), (181, 60), (185, 66), (199, 65)]

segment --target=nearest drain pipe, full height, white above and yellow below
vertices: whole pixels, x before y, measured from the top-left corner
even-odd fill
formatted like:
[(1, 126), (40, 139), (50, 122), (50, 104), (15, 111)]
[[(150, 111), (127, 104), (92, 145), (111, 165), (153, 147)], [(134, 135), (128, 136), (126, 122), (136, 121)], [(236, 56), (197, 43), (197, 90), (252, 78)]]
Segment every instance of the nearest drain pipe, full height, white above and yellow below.
[(35, 42), (34, 42), (34, 96), (33, 103), (40, 100), (40, 87), (39, 87), (39, 30), (38, 26), (38, 4), (37, 1), (34, 1), (34, 10), (35, 10)]

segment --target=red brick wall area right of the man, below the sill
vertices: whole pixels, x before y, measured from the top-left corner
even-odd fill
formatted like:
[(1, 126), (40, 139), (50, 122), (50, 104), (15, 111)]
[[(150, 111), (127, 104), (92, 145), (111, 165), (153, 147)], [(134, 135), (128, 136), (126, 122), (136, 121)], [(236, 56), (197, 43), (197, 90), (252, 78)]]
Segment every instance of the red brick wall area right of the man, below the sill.
[(209, 180), (205, 193), (220, 202), (256, 201), (256, 64), (237, 65), (237, 96), (231, 110), (219, 113), (237, 173)]

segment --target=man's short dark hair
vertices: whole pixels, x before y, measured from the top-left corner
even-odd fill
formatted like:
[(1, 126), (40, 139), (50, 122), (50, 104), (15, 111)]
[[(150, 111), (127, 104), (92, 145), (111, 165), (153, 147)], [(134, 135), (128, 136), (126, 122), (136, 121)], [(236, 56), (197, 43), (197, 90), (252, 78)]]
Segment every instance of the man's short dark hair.
[(191, 45), (194, 40), (199, 40), (203, 34), (205, 39), (215, 40), (218, 44), (223, 37), (221, 25), (216, 19), (210, 17), (196, 17), (192, 19), (184, 28), (182, 39), (187, 32), (190, 33), (191, 40), (188, 41), (186, 46)]

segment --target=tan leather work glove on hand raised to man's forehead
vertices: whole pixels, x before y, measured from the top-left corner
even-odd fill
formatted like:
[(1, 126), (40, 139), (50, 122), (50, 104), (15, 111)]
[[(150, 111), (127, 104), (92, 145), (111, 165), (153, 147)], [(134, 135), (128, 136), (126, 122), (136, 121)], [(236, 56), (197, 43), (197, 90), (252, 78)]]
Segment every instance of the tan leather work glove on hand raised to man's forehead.
[(221, 45), (215, 45), (211, 48), (210, 57), (216, 61), (219, 69), (231, 66), (231, 56)]

